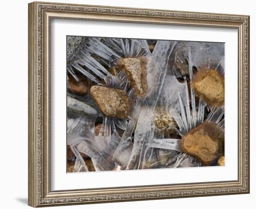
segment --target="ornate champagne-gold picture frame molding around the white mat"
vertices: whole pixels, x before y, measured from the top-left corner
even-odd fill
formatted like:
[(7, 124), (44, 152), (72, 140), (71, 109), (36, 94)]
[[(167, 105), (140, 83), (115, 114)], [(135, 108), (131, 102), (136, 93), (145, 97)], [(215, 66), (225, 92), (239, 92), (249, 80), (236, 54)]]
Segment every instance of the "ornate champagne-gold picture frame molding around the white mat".
[[(50, 27), (52, 19), (98, 20), (238, 30), (238, 180), (52, 191)], [(138, 201), (249, 193), (249, 16), (33, 2), (28, 4), (28, 204)]]

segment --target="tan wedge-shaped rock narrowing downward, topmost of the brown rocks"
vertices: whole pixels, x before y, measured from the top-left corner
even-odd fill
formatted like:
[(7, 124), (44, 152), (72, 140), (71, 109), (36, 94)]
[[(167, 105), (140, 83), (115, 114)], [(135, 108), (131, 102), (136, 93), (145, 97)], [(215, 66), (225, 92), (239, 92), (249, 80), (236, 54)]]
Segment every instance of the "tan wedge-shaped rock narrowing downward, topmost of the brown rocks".
[(147, 81), (147, 58), (121, 58), (117, 61), (117, 66), (127, 73), (131, 85), (135, 88), (135, 95), (144, 97), (148, 90)]

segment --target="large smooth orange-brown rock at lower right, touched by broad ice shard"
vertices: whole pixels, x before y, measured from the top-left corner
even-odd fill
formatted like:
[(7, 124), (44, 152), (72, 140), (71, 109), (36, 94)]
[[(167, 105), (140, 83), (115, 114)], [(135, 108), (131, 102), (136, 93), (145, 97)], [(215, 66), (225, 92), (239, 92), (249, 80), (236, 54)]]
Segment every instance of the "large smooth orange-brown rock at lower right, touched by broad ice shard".
[(224, 133), (216, 124), (204, 122), (181, 139), (182, 152), (210, 165), (224, 153)]

